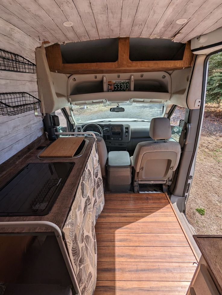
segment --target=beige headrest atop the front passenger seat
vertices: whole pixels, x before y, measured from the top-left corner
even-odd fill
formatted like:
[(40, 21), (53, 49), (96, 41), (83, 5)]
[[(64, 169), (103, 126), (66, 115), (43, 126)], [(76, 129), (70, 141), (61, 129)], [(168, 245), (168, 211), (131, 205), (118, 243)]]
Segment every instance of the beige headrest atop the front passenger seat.
[(152, 139), (169, 139), (171, 137), (170, 120), (167, 118), (153, 118), (150, 122), (150, 137)]

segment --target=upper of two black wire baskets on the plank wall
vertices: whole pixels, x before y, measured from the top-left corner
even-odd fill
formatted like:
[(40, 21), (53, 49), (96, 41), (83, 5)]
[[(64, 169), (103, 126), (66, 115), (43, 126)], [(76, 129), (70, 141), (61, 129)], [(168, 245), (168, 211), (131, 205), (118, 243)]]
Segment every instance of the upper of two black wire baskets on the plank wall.
[(36, 73), (36, 65), (21, 55), (0, 49), (0, 69), (23, 73)]

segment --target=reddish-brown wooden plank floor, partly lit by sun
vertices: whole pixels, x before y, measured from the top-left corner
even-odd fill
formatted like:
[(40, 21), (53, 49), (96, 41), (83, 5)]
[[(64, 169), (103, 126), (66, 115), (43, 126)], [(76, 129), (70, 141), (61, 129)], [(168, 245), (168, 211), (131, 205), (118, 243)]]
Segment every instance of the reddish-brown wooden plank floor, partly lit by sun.
[(109, 194), (94, 295), (185, 295), (196, 258), (165, 194)]

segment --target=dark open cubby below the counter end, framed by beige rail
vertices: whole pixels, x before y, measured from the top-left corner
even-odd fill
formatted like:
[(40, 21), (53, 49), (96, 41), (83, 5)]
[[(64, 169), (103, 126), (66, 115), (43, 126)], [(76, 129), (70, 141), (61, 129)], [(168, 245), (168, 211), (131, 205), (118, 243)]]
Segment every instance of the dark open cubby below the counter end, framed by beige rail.
[(0, 294), (75, 294), (56, 236), (4, 234), (0, 245)]

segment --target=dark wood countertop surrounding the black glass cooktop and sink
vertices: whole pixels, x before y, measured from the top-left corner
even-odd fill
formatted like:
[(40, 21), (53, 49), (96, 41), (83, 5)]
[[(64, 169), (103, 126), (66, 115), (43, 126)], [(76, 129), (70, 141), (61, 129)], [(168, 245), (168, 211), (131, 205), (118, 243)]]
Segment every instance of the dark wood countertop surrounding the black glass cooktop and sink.
[[(37, 155), (41, 151), (36, 149), (38, 146), (46, 146), (50, 142), (42, 136), (36, 139), (31, 145), (24, 148), (21, 152), (11, 157), (8, 161), (0, 165), (0, 187), (9, 181), (19, 170), (21, 170), (28, 163), (52, 163), (52, 162), (75, 162), (68, 179), (65, 182), (56, 203), (52, 207), (49, 214), (45, 216), (0, 216), (0, 222), (15, 222), (15, 221), (49, 221), (56, 224), (60, 229), (63, 228), (65, 220), (73, 203), (75, 193), (85, 168), (86, 162), (89, 158), (94, 138), (87, 137), (89, 143), (82, 156), (74, 159), (38, 159)], [(0, 228), (0, 233), (6, 232), (49, 232), (49, 228)]]

